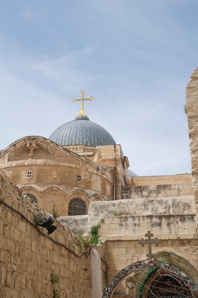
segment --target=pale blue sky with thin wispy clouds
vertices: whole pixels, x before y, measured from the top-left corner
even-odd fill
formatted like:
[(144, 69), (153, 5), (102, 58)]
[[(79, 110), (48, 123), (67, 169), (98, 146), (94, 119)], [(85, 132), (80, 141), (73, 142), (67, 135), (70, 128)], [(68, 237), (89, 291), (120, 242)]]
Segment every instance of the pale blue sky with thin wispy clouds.
[(80, 112), (138, 176), (191, 173), (185, 88), (197, 0), (0, 0), (0, 149)]

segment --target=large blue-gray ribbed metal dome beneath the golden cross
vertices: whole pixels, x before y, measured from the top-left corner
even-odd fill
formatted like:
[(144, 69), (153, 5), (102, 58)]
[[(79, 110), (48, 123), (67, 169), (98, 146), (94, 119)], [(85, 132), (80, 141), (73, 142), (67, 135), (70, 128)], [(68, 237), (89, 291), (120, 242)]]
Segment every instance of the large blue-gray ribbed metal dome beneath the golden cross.
[(86, 145), (96, 147), (116, 145), (108, 131), (87, 118), (87, 116), (78, 115), (75, 120), (58, 127), (49, 136), (49, 139), (61, 146)]

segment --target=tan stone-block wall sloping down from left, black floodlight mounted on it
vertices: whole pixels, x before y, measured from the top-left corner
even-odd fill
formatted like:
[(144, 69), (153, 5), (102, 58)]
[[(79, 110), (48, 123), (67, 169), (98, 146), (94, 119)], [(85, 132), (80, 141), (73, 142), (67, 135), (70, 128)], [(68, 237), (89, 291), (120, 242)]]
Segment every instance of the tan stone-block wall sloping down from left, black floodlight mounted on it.
[[(82, 255), (76, 236), (56, 220), (57, 229), (49, 236), (46, 229), (37, 229), (34, 216), (47, 218), (49, 214), (24, 197), (2, 171), (0, 200), (1, 298), (49, 298), (53, 289), (62, 298), (98, 297), (92, 287), (94, 270), (100, 268), (101, 277), (97, 278), (106, 283), (105, 262), (101, 264), (95, 248), (89, 257)], [(97, 249), (105, 260), (105, 245)], [(51, 273), (59, 277), (56, 285), (50, 282)]]

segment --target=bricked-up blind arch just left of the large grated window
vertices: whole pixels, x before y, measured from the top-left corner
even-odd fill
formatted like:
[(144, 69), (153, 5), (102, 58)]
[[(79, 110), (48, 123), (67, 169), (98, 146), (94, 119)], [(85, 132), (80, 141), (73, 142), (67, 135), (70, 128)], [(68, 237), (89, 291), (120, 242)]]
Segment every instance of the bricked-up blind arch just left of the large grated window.
[(47, 187), (41, 197), (42, 201), (42, 208), (46, 211), (49, 212), (49, 210), (52, 210), (53, 204), (54, 207), (58, 209), (59, 214), (61, 216), (66, 215), (66, 195), (64, 190), (61, 190), (58, 187), (50, 186)]

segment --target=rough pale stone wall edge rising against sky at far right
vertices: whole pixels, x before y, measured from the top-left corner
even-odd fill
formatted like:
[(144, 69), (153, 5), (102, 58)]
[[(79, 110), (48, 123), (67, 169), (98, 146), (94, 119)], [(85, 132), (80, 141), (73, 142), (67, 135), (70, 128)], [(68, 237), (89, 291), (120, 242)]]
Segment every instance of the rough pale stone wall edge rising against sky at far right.
[[(196, 213), (198, 214), (198, 67), (192, 73), (186, 87), (186, 110), (192, 166), (192, 183)], [(198, 216), (197, 216), (198, 223)]]

